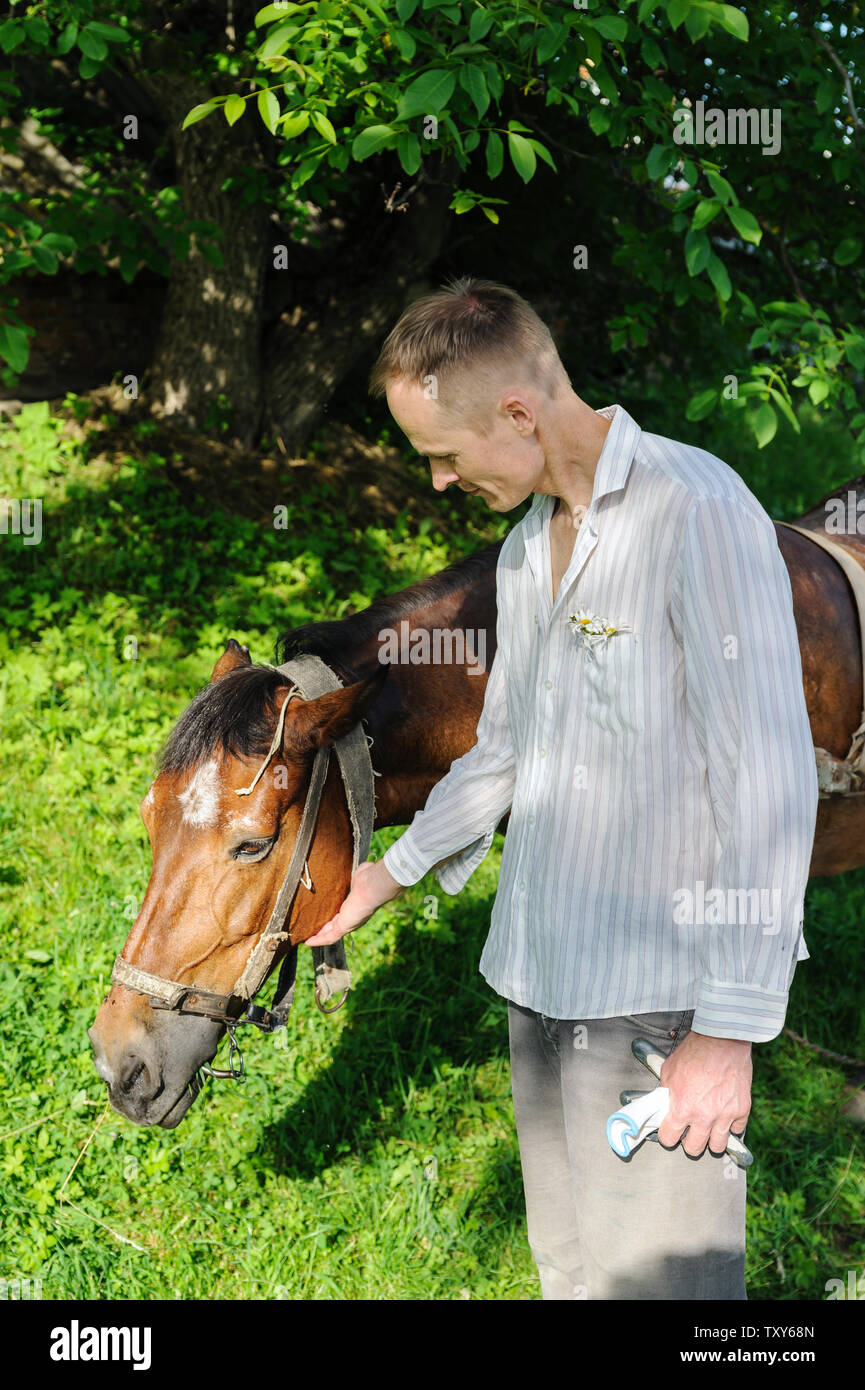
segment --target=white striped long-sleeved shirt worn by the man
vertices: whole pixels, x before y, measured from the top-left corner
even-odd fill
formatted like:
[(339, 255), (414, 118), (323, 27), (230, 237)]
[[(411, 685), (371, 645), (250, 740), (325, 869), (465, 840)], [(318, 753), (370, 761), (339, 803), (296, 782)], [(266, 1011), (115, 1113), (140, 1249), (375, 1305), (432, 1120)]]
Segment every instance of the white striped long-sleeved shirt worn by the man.
[[(818, 808), (787, 569), (726, 463), (599, 414), (556, 600), (537, 493), (499, 553), (477, 742), (384, 863), (406, 887), (439, 865), (459, 892), (510, 810), (480, 962), (498, 994), (560, 1019), (694, 1009), (698, 1033), (768, 1041), (808, 958)], [(577, 607), (626, 631), (591, 659)]]

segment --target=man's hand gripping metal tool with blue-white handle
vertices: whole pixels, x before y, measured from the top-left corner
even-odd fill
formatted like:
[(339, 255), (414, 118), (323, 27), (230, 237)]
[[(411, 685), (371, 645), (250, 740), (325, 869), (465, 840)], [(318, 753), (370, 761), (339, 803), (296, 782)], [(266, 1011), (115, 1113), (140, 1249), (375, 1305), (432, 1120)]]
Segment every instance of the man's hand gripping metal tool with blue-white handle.
[(730, 1130), (741, 1134), (751, 1112), (751, 1044), (688, 1033), (661, 1068), (670, 1108), (658, 1129), (665, 1148), (681, 1147), (700, 1158), (706, 1144), (723, 1154)]

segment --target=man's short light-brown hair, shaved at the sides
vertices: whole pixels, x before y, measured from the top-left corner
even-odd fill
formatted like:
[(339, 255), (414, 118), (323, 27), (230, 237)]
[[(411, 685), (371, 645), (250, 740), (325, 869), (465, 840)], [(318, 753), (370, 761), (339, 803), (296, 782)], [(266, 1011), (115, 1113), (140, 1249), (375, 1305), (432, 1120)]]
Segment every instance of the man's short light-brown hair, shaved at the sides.
[(570, 385), (552, 334), (531, 304), (506, 285), (464, 275), (409, 304), (384, 341), (370, 392), (384, 396), (391, 381), (413, 382), (453, 420), (480, 407), (483, 425), (492, 400), (478, 400), (477, 378), (492, 379), (508, 366), (549, 396)]

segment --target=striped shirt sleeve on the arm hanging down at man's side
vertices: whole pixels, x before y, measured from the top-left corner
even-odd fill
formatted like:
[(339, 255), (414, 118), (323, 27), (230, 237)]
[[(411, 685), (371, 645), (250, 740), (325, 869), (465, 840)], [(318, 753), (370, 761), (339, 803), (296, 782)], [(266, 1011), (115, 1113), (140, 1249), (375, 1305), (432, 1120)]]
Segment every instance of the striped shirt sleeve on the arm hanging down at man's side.
[[(775, 527), (708, 498), (688, 517), (672, 605), (719, 856), (697, 920), (693, 1027), (766, 1042), (784, 1023), (818, 781), (787, 567)], [(720, 890), (720, 892), (709, 890)]]

